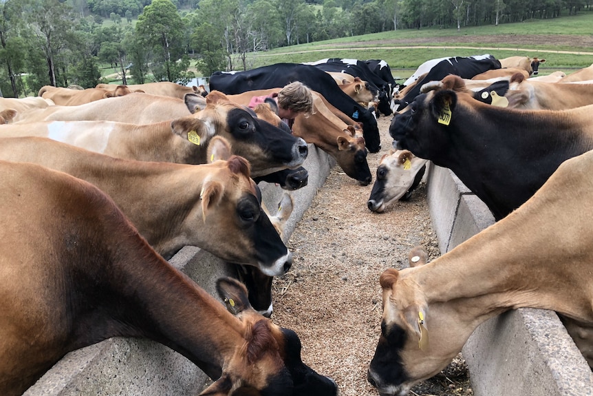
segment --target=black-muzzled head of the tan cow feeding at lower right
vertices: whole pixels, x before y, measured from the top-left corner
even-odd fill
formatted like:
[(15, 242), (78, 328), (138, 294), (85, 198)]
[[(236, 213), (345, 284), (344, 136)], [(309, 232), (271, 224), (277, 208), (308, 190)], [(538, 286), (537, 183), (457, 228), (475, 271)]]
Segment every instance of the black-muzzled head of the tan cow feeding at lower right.
[(460, 329), (463, 324), (455, 322), (453, 313), (429, 305), (414, 276), (426, 258), (420, 249), (409, 255), (412, 268), (387, 269), (380, 276), (381, 335), (367, 375), (380, 395), (405, 396), (412, 386), (439, 373), (475, 328)]

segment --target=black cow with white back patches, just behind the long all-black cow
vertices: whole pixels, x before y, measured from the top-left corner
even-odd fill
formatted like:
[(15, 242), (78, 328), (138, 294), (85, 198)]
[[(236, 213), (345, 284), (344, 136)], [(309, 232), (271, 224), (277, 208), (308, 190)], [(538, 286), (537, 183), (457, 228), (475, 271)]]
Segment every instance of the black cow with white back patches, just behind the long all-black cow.
[(327, 58), (305, 64), (315, 66), (324, 72), (342, 72), (367, 81), (371, 87), (376, 88), (379, 92), (377, 110), (385, 116), (391, 114), (391, 85), (383, 81), (377, 74), (371, 72), (369, 66), (364, 61), (358, 61), (358, 59)]

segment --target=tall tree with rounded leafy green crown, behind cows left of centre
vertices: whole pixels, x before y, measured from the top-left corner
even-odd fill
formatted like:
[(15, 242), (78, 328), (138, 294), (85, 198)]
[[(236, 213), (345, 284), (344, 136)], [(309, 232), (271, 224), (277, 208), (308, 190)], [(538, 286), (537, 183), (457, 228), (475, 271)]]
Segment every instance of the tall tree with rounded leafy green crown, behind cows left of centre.
[(157, 81), (177, 81), (186, 71), (184, 55), (184, 23), (171, 0), (153, 0), (136, 23), (136, 36), (153, 50), (152, 71)]

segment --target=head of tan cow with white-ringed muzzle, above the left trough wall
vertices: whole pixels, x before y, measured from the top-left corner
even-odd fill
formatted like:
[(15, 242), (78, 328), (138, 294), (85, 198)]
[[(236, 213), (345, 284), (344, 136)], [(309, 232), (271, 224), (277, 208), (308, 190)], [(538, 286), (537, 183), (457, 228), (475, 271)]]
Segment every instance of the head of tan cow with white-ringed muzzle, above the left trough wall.
[[(186, 233), (207, 229), (202, 236), (205, 250), (228, 262), (253, 265), (269, 276), (283, 275), (290, 269), (292, 253), (261, 207), (261, 191), (250, 178), (249, 164), (239, 156), (217, 160), (216, 152), (211, 154), (215, 162), (200, 165), (208, 173), (202, 181), (200, 205), (184, 221)], [(229, 239), (232, 248), (220, 243)]]

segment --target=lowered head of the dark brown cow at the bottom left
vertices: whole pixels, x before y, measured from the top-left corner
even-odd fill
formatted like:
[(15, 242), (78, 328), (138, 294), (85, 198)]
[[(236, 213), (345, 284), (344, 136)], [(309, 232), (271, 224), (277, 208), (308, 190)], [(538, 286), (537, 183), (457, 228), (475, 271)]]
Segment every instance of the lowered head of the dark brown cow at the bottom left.
[(200, 395), (337, 395), (332, 379), (319, 375), (301, 360), (297, 334), (251, 308), (245, 286), (222, 278), (216, 288), (227, 310), (239, 319), (238, 331), (245, 341), (224, 362), (219, 379)]

